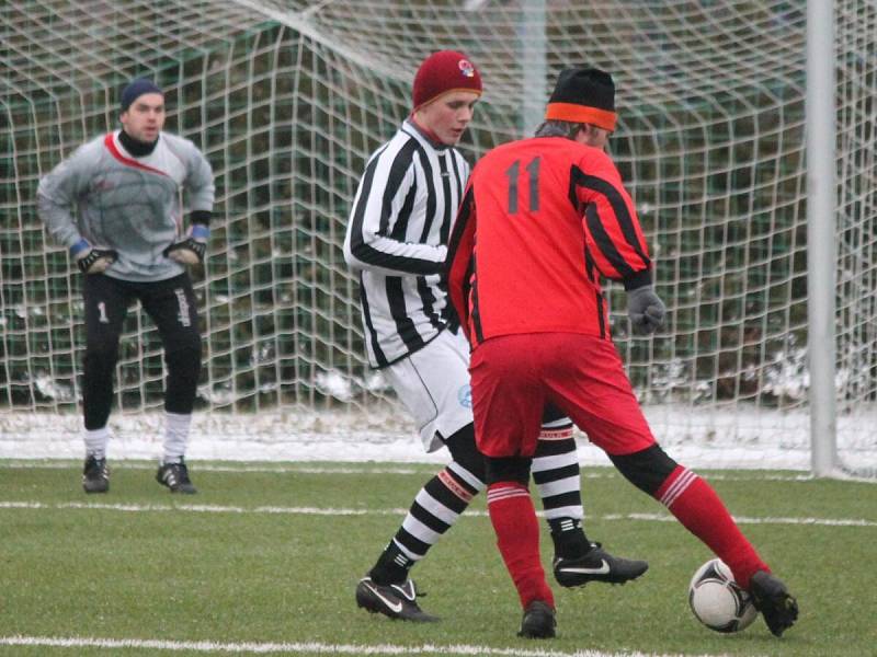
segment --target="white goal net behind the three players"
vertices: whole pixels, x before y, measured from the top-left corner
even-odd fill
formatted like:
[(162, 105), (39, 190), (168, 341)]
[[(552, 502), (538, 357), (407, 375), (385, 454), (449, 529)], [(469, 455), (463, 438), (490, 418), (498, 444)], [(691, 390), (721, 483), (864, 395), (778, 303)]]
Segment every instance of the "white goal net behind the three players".
[[(877, 4), (835, 0), (834, 16), (838, 443), (873, 476)], [(208, 258), (195, 273), (201, 439), (295, 450), (332, 433), (410, 435), (366, 366), (341, 246), (368, 154), (410, 111), (418, 64), (457, 48), (486, 82), (462, 145), (470, 161), (532, 132), (561, 68), (613, 72), (611, 151), (669, 308), (663, 330), (635, 337), (623, 290), (610, 289), (652, 428), (706, 465), (806, 469), (807, 354), (820, 348), (807, 339), (806, 36), (804, 0), (7, 0), (3, 453), (78, 439), (80, 278), (47, 242), (35, 191), (77, 146), (117, 127), (118, 93), (136, 76), (166, 90), (166, 129), (194, 140), (216, 174)], [(111, 426), (153, 436), (164, 372), (139, 310), (116, 376)]]

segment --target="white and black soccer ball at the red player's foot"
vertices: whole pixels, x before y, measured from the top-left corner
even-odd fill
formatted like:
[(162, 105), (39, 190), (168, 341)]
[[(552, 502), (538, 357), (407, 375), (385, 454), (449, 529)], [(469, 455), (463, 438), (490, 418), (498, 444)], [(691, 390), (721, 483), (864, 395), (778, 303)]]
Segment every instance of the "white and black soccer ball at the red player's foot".
[(688, 585), (688, 604), (695, 618), (716, 632), (740, 632), (759, 615), (752, 598), (720, 558), (711, 558), (697, 568)]

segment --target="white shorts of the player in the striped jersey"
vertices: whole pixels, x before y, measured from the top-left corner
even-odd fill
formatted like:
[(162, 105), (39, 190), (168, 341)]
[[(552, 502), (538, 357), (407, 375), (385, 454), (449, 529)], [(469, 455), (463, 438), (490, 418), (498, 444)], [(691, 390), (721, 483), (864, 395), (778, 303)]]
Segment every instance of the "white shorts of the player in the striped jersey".
[(456, 335), (442, 331), (425, 347), (383, 372), (414, 418), (428, 452), (442, 447), (442, 438), (472, 424), (469, 343), (463, 331)]

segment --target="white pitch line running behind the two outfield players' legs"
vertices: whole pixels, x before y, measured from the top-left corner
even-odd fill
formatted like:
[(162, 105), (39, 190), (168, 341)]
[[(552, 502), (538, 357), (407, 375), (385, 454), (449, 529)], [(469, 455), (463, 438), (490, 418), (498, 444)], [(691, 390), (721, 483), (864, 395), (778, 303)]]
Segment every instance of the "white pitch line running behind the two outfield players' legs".
[[(0, 509), (35, 509), (35, 510), (102, 510), (102, 511), (123, 511), (135, 514), (150, 512), (172, 512), (183, 511), (189, 514), (270, 514), (288, 516), (400, 516), (408, 512), (408, 509), (350, 509), (350, 508), (320, 508), (320, 507), (278, 507), (278, 506), (257, 506), (239, 507), (223, 506), (212, 504), (110, 504), (101, 502), (26, 502), (26, 500), (0, 500)], [(543, 512), (538, 511), (538, 516)], [(478, 517), (485, 518), (487, 511), (468, 509), (464, 518)], [(592, 517), (593, 518), (593, 517)], [(676, 522), (676, 519), (669, 514), (607, 514), (596, 517), (600, 520), (641, 520), (646, 522)], [(766, 517), (753, 518), (748, 516), (734, 516), (738, 525), (818, 525), (825, 527), (877, 527), (877, 522), (863, 518), (789, 518), (789, 517)]]

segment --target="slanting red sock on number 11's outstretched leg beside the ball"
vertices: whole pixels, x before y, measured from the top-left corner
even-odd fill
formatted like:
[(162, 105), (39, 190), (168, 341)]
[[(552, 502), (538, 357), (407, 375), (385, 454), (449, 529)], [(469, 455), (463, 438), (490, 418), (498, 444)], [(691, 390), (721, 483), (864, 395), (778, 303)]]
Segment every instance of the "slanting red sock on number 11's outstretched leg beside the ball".
[(713, 487), (687, 468), (677, 465), (654, 497), (728, 564), (737, 584), (749, 588), (749, 578), (770, 568), (731, 518)]

